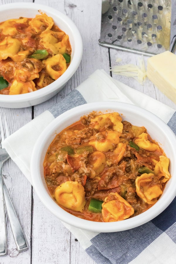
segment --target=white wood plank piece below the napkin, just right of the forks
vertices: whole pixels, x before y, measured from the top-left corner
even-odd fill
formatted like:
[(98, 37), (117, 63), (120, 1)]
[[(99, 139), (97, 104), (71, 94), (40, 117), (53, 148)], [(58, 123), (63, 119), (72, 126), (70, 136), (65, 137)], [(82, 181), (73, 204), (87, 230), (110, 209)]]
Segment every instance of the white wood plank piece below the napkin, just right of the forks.
[(70, 263), (70, 231), (33, 193), (32, 263)]

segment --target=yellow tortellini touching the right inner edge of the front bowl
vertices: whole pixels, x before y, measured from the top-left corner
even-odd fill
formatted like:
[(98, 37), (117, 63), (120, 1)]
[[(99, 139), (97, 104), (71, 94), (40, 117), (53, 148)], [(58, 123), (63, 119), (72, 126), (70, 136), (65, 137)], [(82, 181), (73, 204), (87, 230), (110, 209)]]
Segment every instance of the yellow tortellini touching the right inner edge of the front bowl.
[(160, 161), (156, 163), (154, 173), (158, 175), (161, 182), (167, 182), (170, 179), (170, 173), (168, 171), (169, 159), (165, 156), (160, 156)]

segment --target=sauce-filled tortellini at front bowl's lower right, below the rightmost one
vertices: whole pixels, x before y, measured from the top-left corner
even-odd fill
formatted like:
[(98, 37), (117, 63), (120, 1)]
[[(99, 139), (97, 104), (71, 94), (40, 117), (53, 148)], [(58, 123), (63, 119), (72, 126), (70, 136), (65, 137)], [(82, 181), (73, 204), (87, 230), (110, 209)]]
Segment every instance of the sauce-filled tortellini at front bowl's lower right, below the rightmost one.
[(136, 178), (136, 193), (145, 203), (154, 204), (163, 193), (158, 176), (143, 173)]

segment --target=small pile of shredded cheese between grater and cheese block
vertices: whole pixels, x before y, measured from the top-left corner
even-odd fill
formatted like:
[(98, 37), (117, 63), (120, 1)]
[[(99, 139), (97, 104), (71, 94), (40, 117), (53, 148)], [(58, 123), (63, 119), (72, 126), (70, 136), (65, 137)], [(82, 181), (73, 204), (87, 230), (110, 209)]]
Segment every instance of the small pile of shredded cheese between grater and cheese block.
[(145, 82), (146, 79), (146, 70), (145, 70), (143, 56), (142, 59), (138, 60), (138, 62), (139, 62), (139, 67), (134, 64), (116, 65), (114, 67), (111, 67), (110, 71), (117, 75), (133, 77), (140, 84), (143, 84), (143, 82)]

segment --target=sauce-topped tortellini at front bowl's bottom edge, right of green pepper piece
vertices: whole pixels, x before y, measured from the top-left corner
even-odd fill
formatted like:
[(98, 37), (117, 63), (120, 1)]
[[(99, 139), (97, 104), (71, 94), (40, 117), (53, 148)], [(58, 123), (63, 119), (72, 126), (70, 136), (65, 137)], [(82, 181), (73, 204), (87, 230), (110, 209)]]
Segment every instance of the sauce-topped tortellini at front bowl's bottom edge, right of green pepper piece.
[(102, 204), (104, 222), (114, 222), (127, 219), (134, 214), (133, 207), (117, 192), (110, 193)]

